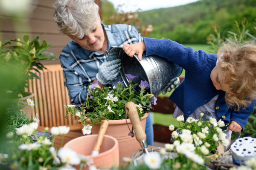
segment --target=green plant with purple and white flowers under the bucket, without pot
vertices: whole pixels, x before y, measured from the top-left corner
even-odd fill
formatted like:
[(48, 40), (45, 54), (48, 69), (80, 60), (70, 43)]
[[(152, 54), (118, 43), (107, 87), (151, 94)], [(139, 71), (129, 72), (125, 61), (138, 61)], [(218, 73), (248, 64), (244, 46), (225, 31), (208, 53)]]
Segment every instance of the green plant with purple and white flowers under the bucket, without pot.
[[(150, 112), (152, 107), (149, 106), (151, 102), (156, 104), (157, 98), (154, 95), (145, 94), (145, 89), (149, 89), (147, 81), (141, 81), (140, 92), (135, 92), (134, 88), (137, 84), (132, 84), (132, 81), (137, 76), (125, 74), (129, 79), (129, 86), (123, 86), (123, 82), (119, 81), (117, 87), (113, 86), (101, 88), (96, 81), (87, 90), (87, 101), (84, 107), (80, 107), (80, 110), (75, 109), (75, 105), (67, 105), (67, 116), (79, 117), (79, 121), (82, 122), (84, 128), (87, 127), (86, 119), (90, 119), (92, 124), (99, 123), (106, 120), (120, 120), (125, 119), (125, 104), (128, 101), (135, 103), (139, 117), (143, 117), (145, 112)], [(89, 94), (92, 98), (89, 98)], [(90, 132), (90, 131), (89, 131)], [(90, 133), (89, 133), (90, 134)]]

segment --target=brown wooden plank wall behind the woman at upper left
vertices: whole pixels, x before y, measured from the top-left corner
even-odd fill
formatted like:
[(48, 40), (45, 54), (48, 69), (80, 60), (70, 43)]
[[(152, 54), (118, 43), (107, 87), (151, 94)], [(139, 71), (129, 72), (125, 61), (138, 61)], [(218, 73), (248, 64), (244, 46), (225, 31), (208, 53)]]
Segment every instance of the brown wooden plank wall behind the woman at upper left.
[[(96, 0), (100, 6), (100, 0)], [(35, 0), (31, 4), (34, 10), (29, 14), (28, 18), (14, 18), (0, 12), (0, 41), (20, 38), (23, 35), (30, 35), (29, 40), (34, 39), (38, 35), (47, 33), (40, 37), (41, 42), (46, 40), (52, 46), (47, 52), (53, 52), (57, 57), (53, 61), (42, 61), (43, 64), (60, 64), (59, 55), (61, 50), (67, 45), (71, 39), (64, 34), (58, 32), (57, 24), (53, 19), (52, 4), (55, 0)]]

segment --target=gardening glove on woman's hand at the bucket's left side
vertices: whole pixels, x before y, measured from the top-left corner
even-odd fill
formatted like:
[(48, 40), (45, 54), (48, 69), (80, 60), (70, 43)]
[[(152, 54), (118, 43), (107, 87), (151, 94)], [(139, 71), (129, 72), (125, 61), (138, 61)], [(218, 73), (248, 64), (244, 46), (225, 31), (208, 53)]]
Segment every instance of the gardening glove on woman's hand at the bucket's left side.
[(120, 68), (120, 59), (104, 62), (99, 66), (99, 72), (96, 74), (96, 78), (101, 84), (106, 85), (108, 82), (116, 79)]

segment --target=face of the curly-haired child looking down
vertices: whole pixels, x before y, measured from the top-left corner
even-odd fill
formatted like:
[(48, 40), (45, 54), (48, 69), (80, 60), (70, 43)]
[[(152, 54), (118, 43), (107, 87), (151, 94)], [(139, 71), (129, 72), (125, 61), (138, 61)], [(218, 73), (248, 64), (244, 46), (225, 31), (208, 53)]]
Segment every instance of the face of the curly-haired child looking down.
[(224, 84), (224, 79), (225, 79), (225, 72), (217, 64), (217, 66), (215, 66), (211, 72), (212, 84), (215, 86), (217, 90), (223, 90), (227, 92), (229, 89), (229, 85)]

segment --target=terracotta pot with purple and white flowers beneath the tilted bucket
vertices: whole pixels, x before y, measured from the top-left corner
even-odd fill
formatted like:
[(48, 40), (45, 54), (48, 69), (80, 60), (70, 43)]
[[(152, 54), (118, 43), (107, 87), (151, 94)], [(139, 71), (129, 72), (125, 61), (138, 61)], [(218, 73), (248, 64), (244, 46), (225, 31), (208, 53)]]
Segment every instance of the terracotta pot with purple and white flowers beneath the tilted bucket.
[[(84, 106), (75, 108), (74, 105), (65, 106), (67, 110), (66, 118), (78, 117), (79, 121), (84, 126), (83, 133), (85, 134), (98, 134), (99, 125), (102, 120), (108, 120), (109, 126), (106, 135), (111, 135), (119, 142), (119, 156), (120, 164), (122, 164), (122, 157), (130, 157), (132, 153), (140, 149), (140, 144), (136, 138), (130, 135), (132, 129), (130, 119), (125, 119), (125, 104), (128, 101), (133, 101), (137, 107), (141, 124), (145, 130), (146, 117), (149, 115), (150, 104), (156, 104), (154, 95), (146, 93), (145, 89), (149, 89), (147, 81), (141, 81), (140, 91), (135, 92), (134, 87), (138, 84), (132, 84), (132, 81), (137, 76), (125, 74), (129, 79), (129, 86), (125, 87), (123, 82), (113, 86), (101, 88), (98, 81), (90, 86), (87, 90), (92, 98), (87, 94), (87, 101)], [(126, 123), (127, 121), (127, 123)], [(91, 126), (90, 126), (91, 125)], [(128, 125), (128, 127), (127, 127)]]

